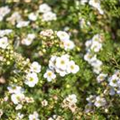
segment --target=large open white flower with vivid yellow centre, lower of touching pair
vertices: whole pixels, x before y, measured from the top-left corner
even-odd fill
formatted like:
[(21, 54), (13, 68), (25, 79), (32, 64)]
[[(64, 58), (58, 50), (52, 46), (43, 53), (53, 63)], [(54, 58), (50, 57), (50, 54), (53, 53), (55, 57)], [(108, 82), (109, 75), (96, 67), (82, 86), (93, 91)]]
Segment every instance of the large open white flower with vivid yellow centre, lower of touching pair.
[(25, 84), (29, 87), (34, 87), (38, 83), (38, 77), (36, 73), (28, 73), (26, 75)]

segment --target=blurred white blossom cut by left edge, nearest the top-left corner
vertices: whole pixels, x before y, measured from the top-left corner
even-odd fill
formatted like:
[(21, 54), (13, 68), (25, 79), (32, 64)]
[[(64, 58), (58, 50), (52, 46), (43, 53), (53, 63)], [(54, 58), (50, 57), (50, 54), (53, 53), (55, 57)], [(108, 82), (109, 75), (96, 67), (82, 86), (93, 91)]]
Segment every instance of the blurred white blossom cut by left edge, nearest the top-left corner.
[(0, 7), (0, 21), (2, 21), (4, 19), (4, 17), (10, 13), (10, 8), (8, 6), (3, 6)]

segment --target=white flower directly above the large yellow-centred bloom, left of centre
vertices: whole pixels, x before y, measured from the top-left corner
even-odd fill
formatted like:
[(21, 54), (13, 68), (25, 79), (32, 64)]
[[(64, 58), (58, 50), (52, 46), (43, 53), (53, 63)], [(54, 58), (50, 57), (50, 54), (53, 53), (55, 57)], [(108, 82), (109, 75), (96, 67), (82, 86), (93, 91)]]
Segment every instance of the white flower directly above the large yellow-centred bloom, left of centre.
[(30, 66), (30, 71), (39, 73), (41, 71), (41, 65), (38, 62), (34, 61)]

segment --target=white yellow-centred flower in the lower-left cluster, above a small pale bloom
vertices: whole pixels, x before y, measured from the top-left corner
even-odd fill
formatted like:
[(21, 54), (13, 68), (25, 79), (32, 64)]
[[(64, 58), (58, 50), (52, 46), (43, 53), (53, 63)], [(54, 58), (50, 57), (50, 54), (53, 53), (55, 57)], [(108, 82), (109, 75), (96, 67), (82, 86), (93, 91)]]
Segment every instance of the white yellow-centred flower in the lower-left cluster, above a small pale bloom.
[(22, 93), (17, 93), (17, 94), (11, 95), (11, 100), (14, 104), (20, 103), (24, 98), (25, 98), (25, 96)]

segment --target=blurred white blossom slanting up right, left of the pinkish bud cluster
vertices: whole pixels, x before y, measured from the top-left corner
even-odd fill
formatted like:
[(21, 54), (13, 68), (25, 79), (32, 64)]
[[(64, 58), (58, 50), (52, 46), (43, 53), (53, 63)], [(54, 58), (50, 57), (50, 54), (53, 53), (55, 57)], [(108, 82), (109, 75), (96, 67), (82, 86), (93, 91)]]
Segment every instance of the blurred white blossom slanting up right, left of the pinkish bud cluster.
[(35, 39), (35, 34), (29, 33), (26, 38), (22, 39), (21, 43), (23, 45), (29, 46), (29, 45), (31, 45), (31, 43), (33, 42), (34, 39)]

